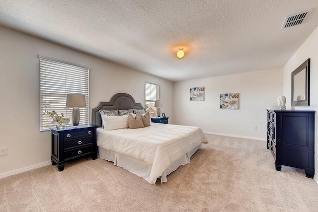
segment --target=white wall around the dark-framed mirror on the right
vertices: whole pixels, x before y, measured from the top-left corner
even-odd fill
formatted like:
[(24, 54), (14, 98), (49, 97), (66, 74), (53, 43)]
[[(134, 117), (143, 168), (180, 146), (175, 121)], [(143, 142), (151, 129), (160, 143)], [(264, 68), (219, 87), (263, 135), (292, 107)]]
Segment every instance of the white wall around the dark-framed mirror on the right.
[[(303, 64), (308, 58), (311, 59), (310, 65), (310, 105), (309, 107), (297, 107), (301, 110), (318, 110), (318, 28), (308, 37), (303, 45), (297, 50), (294, 56), (283, 68), (283, 93), (286, 96), (286, 105), (291, 106), (291, 73)], [(318, 170), (318, 113), (315, 115), (315, 170)], [(315, 180), (318, 182), (317, 174)]]

